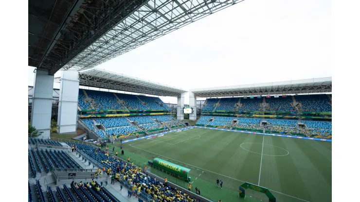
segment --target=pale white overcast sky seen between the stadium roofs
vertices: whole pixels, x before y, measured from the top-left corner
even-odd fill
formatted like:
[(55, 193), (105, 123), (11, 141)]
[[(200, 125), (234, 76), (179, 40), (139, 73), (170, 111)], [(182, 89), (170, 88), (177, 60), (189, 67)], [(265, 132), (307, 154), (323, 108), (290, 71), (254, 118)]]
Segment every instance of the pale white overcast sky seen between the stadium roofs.
[(186, 91), (331, 77), (331, 1), (245, 0), (96, 68)]

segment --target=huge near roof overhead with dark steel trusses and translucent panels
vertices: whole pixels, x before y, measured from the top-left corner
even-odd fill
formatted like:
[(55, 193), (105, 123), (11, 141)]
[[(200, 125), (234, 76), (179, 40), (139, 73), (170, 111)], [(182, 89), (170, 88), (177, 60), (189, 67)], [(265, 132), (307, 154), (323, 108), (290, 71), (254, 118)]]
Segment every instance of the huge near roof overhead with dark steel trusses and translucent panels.
[[(96, 67), (241, 1), (243, 0), (59, 0), (63, 4), (67, 2), (71, 8), (62, 10), (58, 6), (54, 9), (54, 12), (66, 13), (54, 16), (59, 20), (56, 22), (56, 29), (54, 28), (56, 32), (48, 34), (44, 31), (44, 36), (40, 31), (36, 33), (36, 43), (41, 44), (41, 40), (46, 39), (49, 45), (42, 47), (41, 52), (35, 52), (32, 56), (29, 54), (29, 66), (47, 69), (51, 75), (60, 68), (84, 70)], [(30, 5), (33, 2), (37, 4)], [(41, 2), (43, 1), (30, 0), (29, 6), (40, 13), (48, 3)], [(52, 7), (46, 8), (50, 15), (43, 17), (44, 20), (53, 17)], [(48, 22), (52, 24), (50, 20), (44, 21), (45, 24)], [(29, 8), (29, 29), (33, 26), (37, 29), (35, 23), (30, 20)], [(35, 56), (40, 59), (31, 61), (30, 57)]]

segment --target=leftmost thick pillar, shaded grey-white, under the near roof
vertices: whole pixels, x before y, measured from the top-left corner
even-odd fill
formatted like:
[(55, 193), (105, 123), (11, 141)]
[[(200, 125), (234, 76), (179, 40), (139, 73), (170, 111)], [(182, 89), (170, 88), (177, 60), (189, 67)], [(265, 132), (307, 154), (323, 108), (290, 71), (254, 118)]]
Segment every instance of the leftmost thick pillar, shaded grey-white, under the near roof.
[(36, 69), (34, 81), (31, 126), (43, 132), (40, 137), (50, 138), (51, 109), (53, 105), (54, 75)]

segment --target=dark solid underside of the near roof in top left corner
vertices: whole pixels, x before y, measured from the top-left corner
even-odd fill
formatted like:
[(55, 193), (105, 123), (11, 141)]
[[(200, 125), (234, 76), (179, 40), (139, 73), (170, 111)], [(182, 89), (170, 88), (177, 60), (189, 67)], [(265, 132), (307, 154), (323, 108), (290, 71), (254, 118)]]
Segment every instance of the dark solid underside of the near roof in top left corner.
[(83, 0), (29, 0), (29, 66), (40, 67), (47, 56), (56, 54), (52, 49), (61, 35), (60, 31), (82, 2)]

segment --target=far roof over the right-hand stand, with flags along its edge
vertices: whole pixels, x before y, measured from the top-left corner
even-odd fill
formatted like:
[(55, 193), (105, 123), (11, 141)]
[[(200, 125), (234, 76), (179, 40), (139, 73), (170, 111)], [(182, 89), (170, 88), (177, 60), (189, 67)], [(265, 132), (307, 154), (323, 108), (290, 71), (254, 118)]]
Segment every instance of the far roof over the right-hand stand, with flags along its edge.
[(233, 85), (213, 88), (191, 89), (198, 98), (265, 96), (286, 94), (331, 93), (331, 77), (272, 82), (263, 84)]

